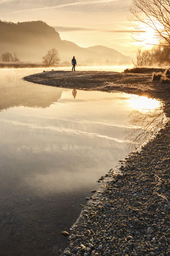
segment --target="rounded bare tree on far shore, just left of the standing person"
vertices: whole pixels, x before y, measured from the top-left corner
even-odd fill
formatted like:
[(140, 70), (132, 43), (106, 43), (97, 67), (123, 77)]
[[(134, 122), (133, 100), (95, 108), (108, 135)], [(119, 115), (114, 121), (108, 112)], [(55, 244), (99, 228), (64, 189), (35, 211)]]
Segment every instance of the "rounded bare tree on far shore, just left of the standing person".
[(58, 65), (60, 62), (58, 50), (56, 48), (51, 48), (51, 50), (48, 50), (48, 53), (42, 57), (43, 64), (50, 66), (50, 65)]

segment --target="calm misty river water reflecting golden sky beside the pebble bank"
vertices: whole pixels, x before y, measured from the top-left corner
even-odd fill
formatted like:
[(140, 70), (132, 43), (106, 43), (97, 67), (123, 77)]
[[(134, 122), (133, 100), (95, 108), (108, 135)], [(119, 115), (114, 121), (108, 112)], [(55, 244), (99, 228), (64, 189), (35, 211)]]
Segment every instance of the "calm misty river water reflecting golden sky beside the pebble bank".
[(96, 182), (161, 126), (160, 103), (37, 85), (0, 70), (0, 250), (53, 256)]

